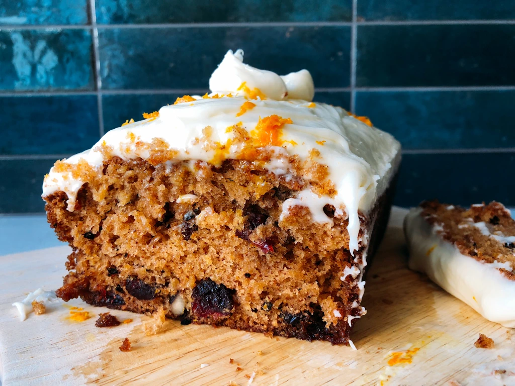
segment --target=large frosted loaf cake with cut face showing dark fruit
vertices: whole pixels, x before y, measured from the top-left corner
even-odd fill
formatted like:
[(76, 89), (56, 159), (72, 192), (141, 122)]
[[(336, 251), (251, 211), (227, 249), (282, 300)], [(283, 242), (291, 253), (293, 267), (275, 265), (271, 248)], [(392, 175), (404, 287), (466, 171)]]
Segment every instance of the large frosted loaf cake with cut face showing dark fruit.
[(229, 51), (183, 96), (57, 161), (48, 221), (73, 248), (62, 288), (98, 306), (347, 343), (400, 145)]

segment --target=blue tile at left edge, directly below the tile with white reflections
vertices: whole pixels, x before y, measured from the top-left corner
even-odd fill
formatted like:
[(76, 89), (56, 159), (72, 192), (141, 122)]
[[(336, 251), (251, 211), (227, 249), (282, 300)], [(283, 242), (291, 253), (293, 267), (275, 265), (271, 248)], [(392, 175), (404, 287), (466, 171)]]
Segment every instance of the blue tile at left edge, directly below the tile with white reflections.
[(0, 154), (78, 153), (99, 139), (96, 95), (0, 97)]

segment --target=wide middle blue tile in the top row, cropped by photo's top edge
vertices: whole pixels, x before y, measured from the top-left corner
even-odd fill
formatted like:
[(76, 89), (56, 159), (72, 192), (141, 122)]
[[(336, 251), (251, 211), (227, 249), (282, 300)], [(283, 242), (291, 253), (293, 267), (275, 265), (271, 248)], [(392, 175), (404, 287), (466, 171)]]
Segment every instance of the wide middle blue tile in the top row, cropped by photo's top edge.
[(97, 23), (350, 21), (351, 0), (96, 0)]

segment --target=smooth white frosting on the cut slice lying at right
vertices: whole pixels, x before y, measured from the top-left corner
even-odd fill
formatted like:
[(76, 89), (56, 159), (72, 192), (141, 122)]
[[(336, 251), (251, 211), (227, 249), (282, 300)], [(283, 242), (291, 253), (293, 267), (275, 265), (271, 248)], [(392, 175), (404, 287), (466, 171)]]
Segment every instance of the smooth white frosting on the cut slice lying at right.
[(499, 271), (511, 270), (509, 265), (488, 264), (462, 254), (440, 237), (438, 226), (431, 226), (420, 213), (420, 208), (411, 209), (404, 220), (409, 268), (425, 273), (486, 319), (514, 328), (515, 281)]

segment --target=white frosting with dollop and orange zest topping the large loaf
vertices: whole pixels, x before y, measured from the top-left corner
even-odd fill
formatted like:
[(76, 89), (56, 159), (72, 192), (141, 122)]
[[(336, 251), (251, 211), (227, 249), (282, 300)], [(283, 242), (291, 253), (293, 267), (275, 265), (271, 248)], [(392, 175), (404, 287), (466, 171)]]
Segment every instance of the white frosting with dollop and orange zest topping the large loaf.
[[(293, 172), (288, 156), (308, 160), (312, 149), (318, 151), (317, 162), (328, 166), (336, 194), (319, 197), (308, 187), (284, 203), (283, 216), (292, 205), (304, 205), (310, 208), (314, 221), (332, 223), (323, 212), (325, 204), (332, 204), (336, 216), (348, 217), (349, 248), (351, 253), (357, 250), (358, 211), (368, 213), (396, 171), (400, 158), (396, 139), (342, 108), (311, 102), (313, 79), (305, 69), (285, 76), (262, 71), (243, 63), (242, 50), (227, 52), (209, 84), (211, 95), (179, 98), (159, 113), (146, 115), (147, 119), (107, 132), (92, 149), (64, 162), (84, 160), (100, 173), (106, 154), (125, 161), (149, 160), (151, 146), (142, 144), (150, 145), (157, 139), (173, 151), (170, 161), (219, 164), (242, 156), (244, 148), (233, 141), (235, 133), (230, 130), (237, 125), (249, 133), (253, 146), (276, 155), (265, 165), (276, 174)], [(205, 137), (208, 126), (209, 141), (222, 144), (223, 151), (206, 147), (205, 141), (199, 140)], [(72, 172), (54, 166), (43, 183), (43, 196), (64, 191), (68, 210), (73, 211), (82, 185)]]

